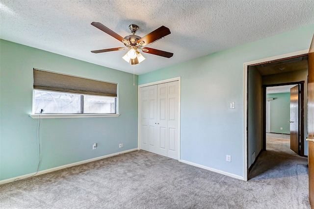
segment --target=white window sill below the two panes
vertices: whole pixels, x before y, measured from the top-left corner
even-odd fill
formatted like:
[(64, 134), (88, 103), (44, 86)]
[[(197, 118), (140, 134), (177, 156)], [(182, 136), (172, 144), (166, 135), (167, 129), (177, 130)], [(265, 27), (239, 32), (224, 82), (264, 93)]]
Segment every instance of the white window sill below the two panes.
[(120, 114), (34, 114), (31, 118), (78, 118), (78, 117), (118, 117)]

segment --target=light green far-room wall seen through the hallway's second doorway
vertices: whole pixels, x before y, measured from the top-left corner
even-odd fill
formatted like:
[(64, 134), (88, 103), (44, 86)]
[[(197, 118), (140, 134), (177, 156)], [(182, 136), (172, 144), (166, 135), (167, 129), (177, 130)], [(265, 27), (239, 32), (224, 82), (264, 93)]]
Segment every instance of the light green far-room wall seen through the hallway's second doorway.
[(267, 98), (274, 98), (270, 101), (270, 132), (290, 134), (290, 93), (269, 93)]

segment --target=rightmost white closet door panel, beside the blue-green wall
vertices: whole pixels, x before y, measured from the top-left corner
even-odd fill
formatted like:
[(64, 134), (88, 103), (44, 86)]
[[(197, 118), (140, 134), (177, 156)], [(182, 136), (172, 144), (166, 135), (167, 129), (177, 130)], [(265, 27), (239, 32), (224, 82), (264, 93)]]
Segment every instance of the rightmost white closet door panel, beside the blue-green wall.
[(167, 157), (179, 160), (179, 81), (168, 83)]

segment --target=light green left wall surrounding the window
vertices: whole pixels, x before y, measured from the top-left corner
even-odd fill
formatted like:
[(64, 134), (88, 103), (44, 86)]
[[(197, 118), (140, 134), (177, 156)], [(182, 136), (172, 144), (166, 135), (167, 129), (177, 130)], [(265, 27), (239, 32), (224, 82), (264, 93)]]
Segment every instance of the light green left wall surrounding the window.
[[(37, 170), (39, 121), (29, 117), (33, 68), (118, 83), (121, 114), (41, 119), (39, 170), (137, 148), (137, 85), (132, 74), (0, 40), (0, 180)], [(119, 143), (124, 147), (118, 148)]]

